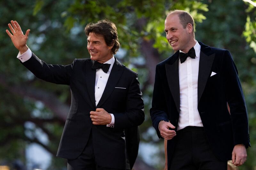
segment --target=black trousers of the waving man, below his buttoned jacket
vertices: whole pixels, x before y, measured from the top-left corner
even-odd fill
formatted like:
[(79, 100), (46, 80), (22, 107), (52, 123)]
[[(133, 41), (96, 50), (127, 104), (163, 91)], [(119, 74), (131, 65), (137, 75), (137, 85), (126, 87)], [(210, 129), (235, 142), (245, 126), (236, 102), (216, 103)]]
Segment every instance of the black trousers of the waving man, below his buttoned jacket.
[[(106, 145), (106, 147), (108, 146)], [(130, 167), (128, 162), (126, 167)], [(91, 131), (89, 140), (82, 154), (76, 159), (73, 159), (73, 160), (68, 159), (68, 170), (125, 170), (125, 169), (113, 169), (113, 168), (106, 168), (106, 167), (101, 167), (97, 165), (97, 163), (95, 162), (95, 156), (93, 153), (92, 131)], [(126, 170), (130, 170), (130, 169), (127, 168)]]

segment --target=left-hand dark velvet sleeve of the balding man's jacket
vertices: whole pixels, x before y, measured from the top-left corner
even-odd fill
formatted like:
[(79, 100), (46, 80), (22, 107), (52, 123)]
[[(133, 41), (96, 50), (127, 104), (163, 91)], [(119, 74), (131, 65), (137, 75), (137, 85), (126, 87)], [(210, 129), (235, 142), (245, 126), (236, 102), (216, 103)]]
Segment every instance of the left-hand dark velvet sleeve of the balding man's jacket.
[(159, 70), (159, 67), (159, 65), (156, 65), (156, 76), (152, 98), (152, 108), (150, 109), (150, 116), (153, 123), (153, 127), (156, 129), (158, 137), (163, 138), (160, 135), (158, 125), (159, 122), (162, 120), (166, 122), (168, 122), (169, 120), (167, 116), (166, 101), (164, 99), (164, 90), (162, 87), (162, 74)]

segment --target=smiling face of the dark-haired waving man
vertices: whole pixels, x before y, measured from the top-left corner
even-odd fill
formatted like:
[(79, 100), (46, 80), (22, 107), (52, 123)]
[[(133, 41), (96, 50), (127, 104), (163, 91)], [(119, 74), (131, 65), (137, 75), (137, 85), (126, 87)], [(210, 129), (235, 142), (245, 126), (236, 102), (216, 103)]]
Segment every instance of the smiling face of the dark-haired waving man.
[(105, 63), (113, 56), (111, 51), (113, 46), (106, 44), (103, 35), (91, 32), (88, 35), (87, 42), (87, 49), (92, 60)]

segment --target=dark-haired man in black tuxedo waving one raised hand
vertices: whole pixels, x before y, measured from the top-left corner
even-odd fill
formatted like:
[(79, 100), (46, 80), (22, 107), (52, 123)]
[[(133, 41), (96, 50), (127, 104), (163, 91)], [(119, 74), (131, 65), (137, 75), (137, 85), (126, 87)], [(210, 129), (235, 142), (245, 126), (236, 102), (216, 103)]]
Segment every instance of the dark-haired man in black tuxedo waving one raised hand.
[(16, 21), (9, 28), (12, 33), (6, 32), (20, 51), (17, 57), (28, 70), (37, 78), (70, 86), (71, 107), (57, 153), (68, 159), (68, 170), (132, 168), (144, 105), (138, 74), (114, 57), (120, 46), (115, 24), (88, 24), (91, 59), (65, 66), (47, 64), (31, 52), (26, 45), (30, 30), (23, 35)]

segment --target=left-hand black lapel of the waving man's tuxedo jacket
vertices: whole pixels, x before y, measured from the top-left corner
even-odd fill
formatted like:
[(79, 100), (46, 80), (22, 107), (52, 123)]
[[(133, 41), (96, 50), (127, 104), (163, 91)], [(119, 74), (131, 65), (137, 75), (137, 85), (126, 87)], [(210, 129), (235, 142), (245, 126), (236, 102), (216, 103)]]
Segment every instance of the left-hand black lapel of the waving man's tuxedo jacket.
[(85, 82), (87, 85), (87, 90), (92, 102), (92, 106), (96, 108), (95, 105), (95, 77), (96, 77), (96, 70), (92, 69), (92, 61), (87, 63), (89, 66), (85, 67)]

